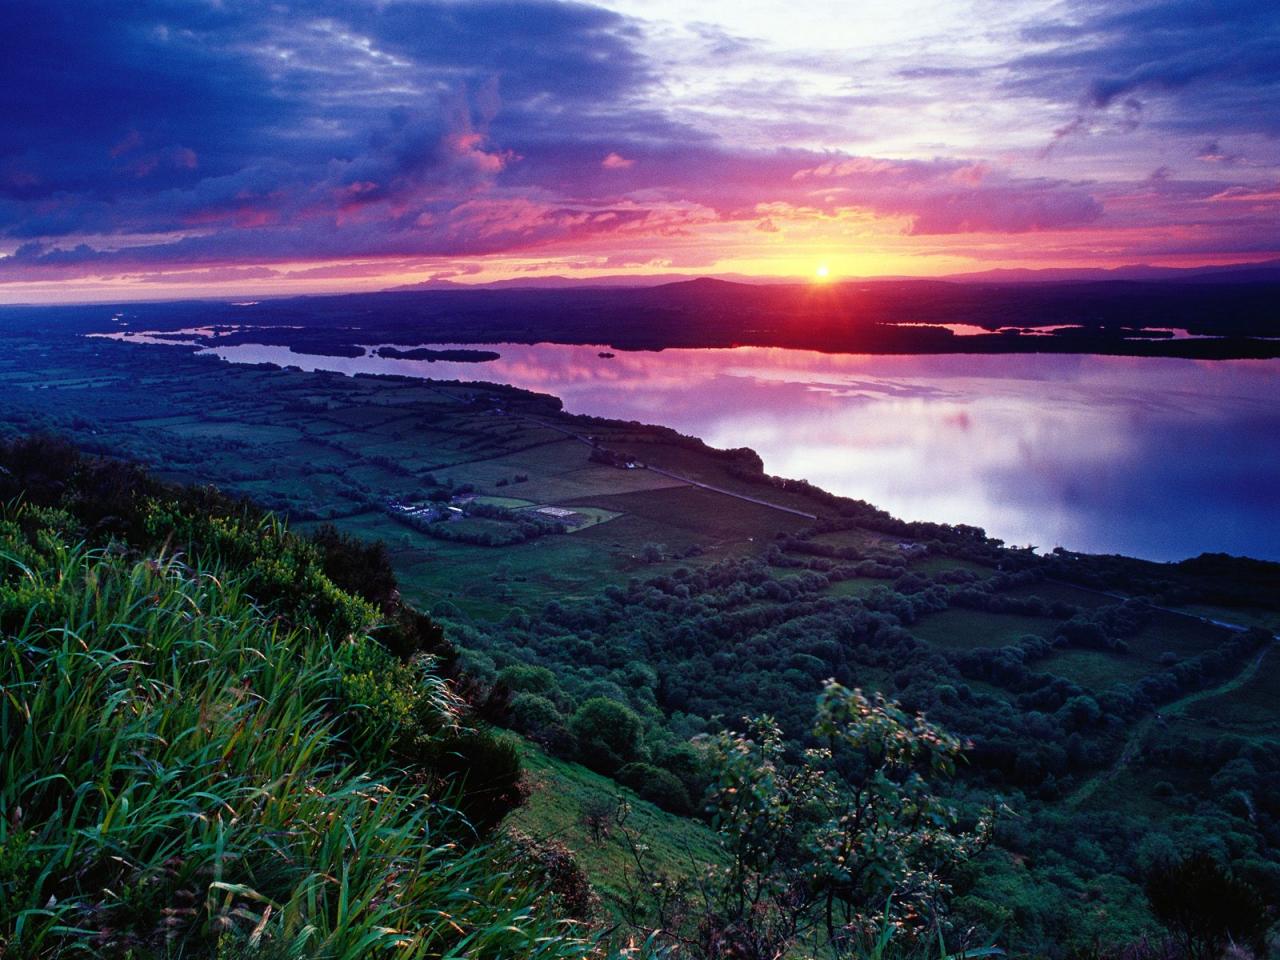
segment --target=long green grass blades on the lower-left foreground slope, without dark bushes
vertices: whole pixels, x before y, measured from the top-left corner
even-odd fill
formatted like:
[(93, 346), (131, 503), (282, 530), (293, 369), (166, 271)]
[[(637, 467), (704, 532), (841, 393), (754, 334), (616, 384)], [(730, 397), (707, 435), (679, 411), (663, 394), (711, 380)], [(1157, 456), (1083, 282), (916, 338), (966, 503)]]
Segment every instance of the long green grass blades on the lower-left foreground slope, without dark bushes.
[(241, 580), (0, 513), (0, 955), (588, 955), (392, 764), (394, 712), (351, 699), (369, 641)]

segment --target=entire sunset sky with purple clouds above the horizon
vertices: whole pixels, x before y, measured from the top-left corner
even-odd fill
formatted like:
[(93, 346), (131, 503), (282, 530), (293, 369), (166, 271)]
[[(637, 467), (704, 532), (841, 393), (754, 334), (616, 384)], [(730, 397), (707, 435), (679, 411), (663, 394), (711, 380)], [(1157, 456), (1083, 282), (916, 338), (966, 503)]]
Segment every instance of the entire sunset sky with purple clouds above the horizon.
[(0, 302), (1280, 256), (1280, 0), (5, 0)]

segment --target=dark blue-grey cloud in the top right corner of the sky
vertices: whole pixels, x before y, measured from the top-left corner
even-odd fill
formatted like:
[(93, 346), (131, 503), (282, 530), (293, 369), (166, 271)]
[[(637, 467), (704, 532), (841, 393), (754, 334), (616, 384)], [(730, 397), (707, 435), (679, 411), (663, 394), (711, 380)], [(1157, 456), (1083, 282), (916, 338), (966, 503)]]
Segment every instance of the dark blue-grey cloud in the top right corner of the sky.
[(1280, 136), (1280, 4), (1076, 3), (1024, 36), (1042, 49), (1009, 64), (1020, 93), (1097, 111), (1167, 99), (1158, 123), (1176, 131)]

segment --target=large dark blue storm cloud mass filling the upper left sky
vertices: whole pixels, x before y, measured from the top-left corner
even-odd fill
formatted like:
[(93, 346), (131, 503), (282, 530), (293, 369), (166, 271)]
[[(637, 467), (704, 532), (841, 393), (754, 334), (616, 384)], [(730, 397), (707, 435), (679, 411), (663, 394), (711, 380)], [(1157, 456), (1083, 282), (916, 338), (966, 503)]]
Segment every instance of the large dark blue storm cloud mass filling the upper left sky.
[(5, 28), (0, 229), (19, 238), (465, 191), (509, 156), (499, 111), (509, 142), (563, 136), (649, 82), (622, 18), (550, 1), (17, 0)]

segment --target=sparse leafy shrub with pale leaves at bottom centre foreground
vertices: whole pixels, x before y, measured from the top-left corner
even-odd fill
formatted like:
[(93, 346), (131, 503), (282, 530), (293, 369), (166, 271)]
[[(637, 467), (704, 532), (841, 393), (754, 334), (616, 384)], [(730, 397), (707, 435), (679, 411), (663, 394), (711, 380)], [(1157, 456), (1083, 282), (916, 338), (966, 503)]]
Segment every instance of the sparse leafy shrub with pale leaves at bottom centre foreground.
[(943, 925), (948, 874), (991, 837), (933, 790), (961, 744), (897, 704), (828, 681), (812, 731), (820, 748), (788, 755), (771, 717), (708, 745), (712, 826), (726, 863), (695, 883), (653, 870), (623, 829), (636, 878), (635, 915), (695, 957), (782, 956), (806, 945), (851, 956), (892, 931)]

